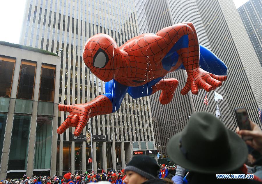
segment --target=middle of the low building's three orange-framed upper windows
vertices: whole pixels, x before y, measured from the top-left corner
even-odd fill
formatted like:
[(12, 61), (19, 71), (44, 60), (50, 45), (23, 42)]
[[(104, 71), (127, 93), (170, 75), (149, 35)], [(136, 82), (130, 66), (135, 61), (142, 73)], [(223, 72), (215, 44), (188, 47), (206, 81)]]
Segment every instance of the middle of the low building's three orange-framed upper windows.
[(36, 63), (22, 61), (18, 82), (17, 98), (33, 99)]

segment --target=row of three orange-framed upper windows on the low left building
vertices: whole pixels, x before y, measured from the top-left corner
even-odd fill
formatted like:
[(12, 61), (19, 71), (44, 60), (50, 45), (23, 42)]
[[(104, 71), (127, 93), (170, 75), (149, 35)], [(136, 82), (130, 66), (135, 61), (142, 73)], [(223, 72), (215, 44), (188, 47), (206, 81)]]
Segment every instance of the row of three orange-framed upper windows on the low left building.
[[(36, 62), (22, 60), (17, 87), (17, 98), (33, 99)], [(0, 57), (0, 96), (10, 97), (13, 76), (15, 69), (15, 59)], [(54, 101), (55, 66), (42, 64), (39, 101)]]

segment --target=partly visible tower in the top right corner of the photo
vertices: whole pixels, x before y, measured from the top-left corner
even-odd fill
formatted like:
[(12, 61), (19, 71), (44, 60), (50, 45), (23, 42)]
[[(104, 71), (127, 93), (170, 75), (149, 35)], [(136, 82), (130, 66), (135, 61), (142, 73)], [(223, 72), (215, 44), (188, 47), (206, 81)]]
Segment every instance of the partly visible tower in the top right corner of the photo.
[(245, 26), (249, 39), (253, 45), (262, 67), (262, 2), (249, 0), (238, 8), (238, 13)]

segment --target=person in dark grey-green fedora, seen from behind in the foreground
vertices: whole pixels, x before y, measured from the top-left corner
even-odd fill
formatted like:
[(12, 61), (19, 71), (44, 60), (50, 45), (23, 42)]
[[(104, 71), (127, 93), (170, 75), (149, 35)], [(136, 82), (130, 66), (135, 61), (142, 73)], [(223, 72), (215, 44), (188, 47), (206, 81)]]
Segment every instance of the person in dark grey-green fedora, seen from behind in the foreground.
[(215, 174), (241, 174), (247, 146), (215, 116), (191, 115), (184, 130), (175, 134), (167, 153), (176, 164), (188, 169), (191, 183), (256, 183), (248, 179), (217, 179)]

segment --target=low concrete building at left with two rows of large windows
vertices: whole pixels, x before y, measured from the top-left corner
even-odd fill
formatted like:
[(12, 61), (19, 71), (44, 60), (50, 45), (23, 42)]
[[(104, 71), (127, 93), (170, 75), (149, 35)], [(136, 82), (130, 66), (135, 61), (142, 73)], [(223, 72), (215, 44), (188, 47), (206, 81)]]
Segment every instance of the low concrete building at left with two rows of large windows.
[(2, 179), (56, 168), (60, 57), (17, 46), (0, 42)]

